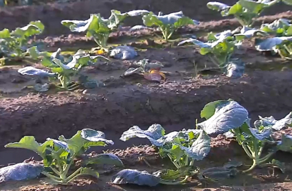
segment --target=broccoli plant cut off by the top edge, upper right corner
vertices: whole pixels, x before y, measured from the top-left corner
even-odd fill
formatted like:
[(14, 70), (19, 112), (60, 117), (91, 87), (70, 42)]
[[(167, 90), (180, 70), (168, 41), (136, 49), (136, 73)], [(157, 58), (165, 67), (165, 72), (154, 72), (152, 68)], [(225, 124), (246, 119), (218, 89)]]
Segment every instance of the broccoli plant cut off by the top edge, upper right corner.
[[(254, 24), (255, 19), (258, 18), (265, 9), (271, 7), (271, 5), (279, 3), (280, 1), (281, 0), (239, 0), (232, 6), (216, 1), (210, 1), (207, 3), (207, 8), (221, 12), (222, 16), (233, 15), (240, 25), (251, 27)], [(283, 2), (287, 5), (292, 5), (290, 0), (283, 0)]]

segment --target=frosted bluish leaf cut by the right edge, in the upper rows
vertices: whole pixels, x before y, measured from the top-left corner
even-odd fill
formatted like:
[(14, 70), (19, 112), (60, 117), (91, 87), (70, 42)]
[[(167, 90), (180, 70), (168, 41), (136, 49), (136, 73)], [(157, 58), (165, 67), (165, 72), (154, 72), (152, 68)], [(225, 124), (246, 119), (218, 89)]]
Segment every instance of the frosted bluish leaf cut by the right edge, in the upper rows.
[(273, 38), (266, 38), (256, 39), (256, 49), (258, 51), (277, 51), (277, 46), (281, 45), (282, 43), (291, 42), (292, 36), (280, 36), (280, 37), (273, 37)]

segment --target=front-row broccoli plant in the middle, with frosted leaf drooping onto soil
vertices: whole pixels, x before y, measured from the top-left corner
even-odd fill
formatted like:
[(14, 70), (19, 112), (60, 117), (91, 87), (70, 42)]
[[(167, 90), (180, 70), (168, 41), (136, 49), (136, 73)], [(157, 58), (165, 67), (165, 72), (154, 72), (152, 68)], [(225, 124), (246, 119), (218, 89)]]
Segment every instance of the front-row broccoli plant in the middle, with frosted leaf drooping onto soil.
[[(122, 170), (115, 177), (113, 183), (136, 183), (139, 185), (147, 184), (154, 186), (162, 183), (167, 185), (177, 185), (188, 181), (188, 177), (199, 174), (199, 168), (193, 166), (194, 161), (202, 160), (210, 151), (210, 137), (205, 131), (189, 129), (183, 131), (174, 131), (165, 134), (164, 128), (159, 124), (153, 124), (148, 130), (143, 131), (138, 126), (131, 127), (125, 131), (120, 138), (126, 141), (133, 137), (147, 138), (157, 148), (161, 157), (168, 157), (176, 170), (161, 170), (150, 175), (146, 172), (137, 170)], [(137, 176), (128, 177), (129, 173), (135, 173)], [(146, 175), (154, 182), (148, 182), (144, 179), (137, 180), (136, 177)], [(124, 179), (124, 180), (122, 180)], [(142, 182), (139, 182), (142, 181)]]

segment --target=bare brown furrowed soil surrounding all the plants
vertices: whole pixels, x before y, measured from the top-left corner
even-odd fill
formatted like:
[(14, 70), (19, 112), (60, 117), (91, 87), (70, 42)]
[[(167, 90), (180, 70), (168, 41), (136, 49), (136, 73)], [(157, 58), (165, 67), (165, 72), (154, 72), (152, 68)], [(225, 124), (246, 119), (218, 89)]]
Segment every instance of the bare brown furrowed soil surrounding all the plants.
[[(115, 144), (90, 148), (87, 151), (89, 156), (104, 150), (120, 157), (124, 168), (155, 172), (166, 166), (173, 168), (173, 165), (169, 159), (159, 157), (157, 148), (150, 146), (148, 139), (134, 138), (122, 142), (122, 133), (131, 126), (146, 129), (152, 124), (161, 124), (166, 133), (196, 128), (196, 119), (203, 121), (200, 113), (207, 103), (229, 98), (247, 109), (251, 124), (258, 120), (258, 115), (273, 115), (276, 120), (286, 116), (292, 111), (291, 60), (278, 54), (259, 52), (254, 47), (254, 38), (244, 39), (233, 56), (243, 60), (245, 73), (240, 78), (228, 78), (210, 57), (199, 53), (198, 47), (189, 44), (177, 46), (186, 39), (183, 37), (186, 34), (196, 35), (204, 41), (209, 32), (240, 27), (232, 16), (222, 17), (220, 13), (208, 9), (207, 2), (100, 0), (0, 8), (0, 30), (14, 30), (39, 20), (45, 25), (45, 30), (34, 41), (45, 45), (44, 51), (47, 52), (56, 52), (60, 48), (63, 56), (72, 55), (78, 49), (96, 47), (96, 43), (85, 37), (85, 33), (71, 32), (63, 26), (60, 22), (65, 19), (85, 20), (91, 13), (100, 13), (107, 18), (111, 10), (149, 10), (155, 14), (181, 10), (184, 15), (201, 22), (179, 28), (172, 36), (176, 40), (166, 42), (151, 30), (129, 30), (133, 25), (142, 25), (141, 16), (126, 19), (122, 27), (111, 32), (108, 43), (111, 46), (134, 47), (138, 56), (131, 60), (109, 58), (106, 62), (82, 69), (82, 74), (101, 80), (104, 87), (74, 91), (53, 88), (39, 93), (32, 87), (40, 79), (18, 72), (25, 66), (45, 69), (39, 60), (13, 61), (0, 66), (0, 165), (10, 166), (22, 161), (40, 163), (41, 157), (30, 150), (4, 148), (8, 143), (19, 142), (23, 136), (34, 136), (38, 142), (45, 142), (47, 137), (58, 139), (58, 136), (64, 135), (69, 138), (83, 128), (91, 128), (104, 132), (106, 139), (113, 140)], [(222, 3), (233, 5), (236, 1), (225, 0)], [(292, 19), (291, 8), (284, 3), (267, 8), (254, 26), (259, 27), (276, 19)], [(144, 58), (164, 65), (161, 71), (166, 80), (154, 82), (142, 75), (123, 76), (126, 69)], [(47, 79), (41, 82), (49, 83)], [(292, 135), (290, 127), (277, 133), (278, 137), (280, 133)], [(252, 162), (235, 138), (218, 135), (211, 138), (210, 146), (207, 157), (194, 161), (194, 166), (201, 169), (221, 167), (230, 160), (236, 160), (244, 164), (239, 169), (246, 169)], [(159, 184), (148, 187), (115, 185), (111, 183), (111, 177), (122, 169), (109, 170), (106, 166), (98, 166), (95, 167), (100, 172), (98, 179), (81, 176), (65, 186), (52, 183), (41, 175), (37, 179), (1, 183), (0, 190), (292, 190), (291, 153), (278, 151), (274, 158), (284, 163), (284, 173), (278, 168), (256, 168), (249, 173), (218, 181), (194, 176), (188, 183), (177, 186)], [(78, 160), (76, 166), (80, 162)]]

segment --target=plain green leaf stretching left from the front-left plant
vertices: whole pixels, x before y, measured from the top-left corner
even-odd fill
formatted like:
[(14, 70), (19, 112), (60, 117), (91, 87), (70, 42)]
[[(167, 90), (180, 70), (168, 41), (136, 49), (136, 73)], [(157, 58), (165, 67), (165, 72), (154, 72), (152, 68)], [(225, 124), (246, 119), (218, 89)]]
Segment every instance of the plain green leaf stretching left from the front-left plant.
[(43, 159), (45, 159), (45, 150), (47, 147), (53, 146), (54, 142), (52, 140), (48, 140), (43, 144), (39, 144), (36, 142), (33, 136), (25, 136), (19, 142), (6, 144), (5, 148), (25, 148), (28, 150), (32, 150), (38, 155), (40, 155)]

